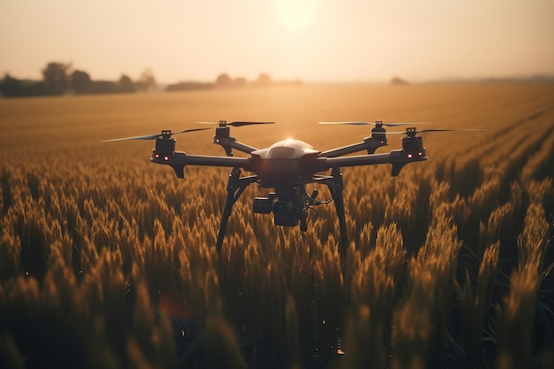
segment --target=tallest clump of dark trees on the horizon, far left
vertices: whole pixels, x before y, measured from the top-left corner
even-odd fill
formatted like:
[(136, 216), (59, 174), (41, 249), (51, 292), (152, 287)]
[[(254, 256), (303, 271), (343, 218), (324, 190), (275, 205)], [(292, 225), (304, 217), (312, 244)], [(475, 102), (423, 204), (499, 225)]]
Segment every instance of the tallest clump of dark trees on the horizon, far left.
[(156, 88), (156, 78), (150, 69), (145, 69), (137, 81), (121, 74), (119, 81), (95, 81), (71, 63), (50, 62), (42, 68), (41, 81), (19, 80), (9, 73), (0, 81), (0, 91), (5, 97), (61, 96), (65, 94), (115, 94), (148, 91)]

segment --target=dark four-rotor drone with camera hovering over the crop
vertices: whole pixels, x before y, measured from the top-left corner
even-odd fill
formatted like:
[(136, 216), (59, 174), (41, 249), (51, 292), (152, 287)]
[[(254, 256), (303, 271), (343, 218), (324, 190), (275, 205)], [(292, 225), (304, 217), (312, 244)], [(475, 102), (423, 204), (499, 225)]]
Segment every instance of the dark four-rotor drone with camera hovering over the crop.
[[(295, 139), (275, 142), (268, 148), (257, 149), (238, 142), (235, 137), (230, 135), (230, 127), (274, 124), (270, 121), (234, 121), (227, 123), (226, 120), (220, 120), (219, 123), (198, 123), (217, 125), (215, 135), (213, 135), (213, 143), (221, 146), (227, 156), (189, 155), (175, 150), (176, 140), (173, 135), (213, 129), (212, 127), (192, 128), (179, 132), (162, 130), (161, 134), (118, 138), (104, 142), (156, 140), (156, 146), (152, 150), (150, 161), (155, 164), (171, 166), (176, 176), (181, 179), (185, 178), (184, 168), (187, 165), (232, 168), (227, 180), (227, 197), (223, 206), (216, 242), (218, 251), (222, 248), (227, 222), (234, 204), (250, 184), (256, 183), (260, 188), (273, 188), (273, 191), (268, 196), (255, 197), (252, 202), (252, 210), (260, 214), (273, 213), (275, 226), (299, 226), (300, 230), (304, 232), (308, 228), (309, 211), (314, 206), (334, 201), (341, 234), (339, 247), (341, 257), (344, 256), (348, 248), (341, 168), (389, 164), (392, 165), (391, 175), (394, 177), (400, 173), (404, 165), (427, 160), (423, 139), (419, 134), (471, 130), (425, 129), (418, 131), (415, 127), (407, 127), (403, 132), (387, 132), (385, 127), (412, 126), (419, 123), (383, 123), (382, 121), (375, 121), (374, 123), (364, 121), (319, 122), (322, 125), (373, 126), (371, 136), (365, 137), (363, 142), (332, 150), (319, 151), (314, 150), (311, 144)], [(402, 137), (402, 149), (375, 154), (375, 150), (389, 144), (387, 134), (404, 135)], [(234, 157), (233, 150), (249, 154), (250, 158)], [(350, 155), (360, 151), (366, 153)], [(243, 171), (252, 174), (242, 175)], [(319, 190), (317, 188), (311, 194), (308, 194), (306, 192), (306, 185), (308, 184), (326, 185), (331, 194), (331, 199), (327, 201), (318, 200)]]

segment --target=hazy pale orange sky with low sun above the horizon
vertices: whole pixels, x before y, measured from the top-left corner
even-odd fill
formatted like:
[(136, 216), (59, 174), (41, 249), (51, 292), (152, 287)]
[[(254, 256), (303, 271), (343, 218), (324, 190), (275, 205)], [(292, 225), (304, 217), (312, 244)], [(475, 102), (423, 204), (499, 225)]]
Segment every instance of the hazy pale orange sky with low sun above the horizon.
[(0, 73), (408, 81), (554, 74), (554, 0), (0, 0)]

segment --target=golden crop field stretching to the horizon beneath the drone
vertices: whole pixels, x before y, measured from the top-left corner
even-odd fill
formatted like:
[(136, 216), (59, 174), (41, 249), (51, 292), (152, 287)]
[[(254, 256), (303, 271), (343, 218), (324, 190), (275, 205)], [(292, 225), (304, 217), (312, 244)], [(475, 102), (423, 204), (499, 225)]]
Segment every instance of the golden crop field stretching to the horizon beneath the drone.
[[(189, 165), (183, 181), (150, 163), (154, 142), (102, 142), (219, 119), (276, 121), (231, 128), (258, 148), (370, 135), (322, 120), (486, 130), (423, 134), (429, 159), (398, 177), (390, 165), (344, 168), (342, 269), (333, 204), (304, 233), (275, 227), (251, 209), (266, 189), (250, 186), (218, 255), (228, 169)], [(0, 134), (2, 367), (554, 363), (553, 85), (0, 99)], [(178, 135), (177, 150), (225, 155), (212, 135)], [(389, 135), (377, 152), (396, 149)]]

